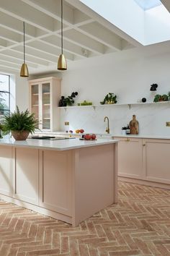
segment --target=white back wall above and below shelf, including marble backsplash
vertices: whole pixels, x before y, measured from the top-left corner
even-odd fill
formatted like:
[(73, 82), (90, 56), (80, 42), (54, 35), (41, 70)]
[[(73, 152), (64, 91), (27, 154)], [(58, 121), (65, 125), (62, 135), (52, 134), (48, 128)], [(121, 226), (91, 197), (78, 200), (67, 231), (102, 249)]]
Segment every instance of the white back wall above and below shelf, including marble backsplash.
[[(76, 103), (86, 100), (99, 104), (109, 92), (117, 95), (118, 103), (136, 103), (143, 97), (153, 101), (156, 93), (170, 91), (169, 68), (169, 43), (78, 61), (63, 74), (62, 94), (70, 95), (77, 90)], [(156, 93), (150, 91), (152, 83), (158, 83)], [(170, 135), (170, 128), (165, 127), (165, 122), (170, 121), (169, 108), (170, 103), (143, 104), (131, 109), (128, 106), (62, 109), (61, 129), (64, 129), (64, 121), (70, 121), (71, 129), (103, 133), (104, 116), (109, 116), (110, 132), (120, 134), (121, 127), (136, 114), (140, 135)]]

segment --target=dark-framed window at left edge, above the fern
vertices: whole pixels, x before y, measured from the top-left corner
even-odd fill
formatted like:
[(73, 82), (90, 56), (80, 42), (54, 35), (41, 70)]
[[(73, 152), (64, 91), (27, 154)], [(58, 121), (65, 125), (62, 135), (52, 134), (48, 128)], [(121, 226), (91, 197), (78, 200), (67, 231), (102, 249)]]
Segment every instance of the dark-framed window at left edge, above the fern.
[(10, 111), (10, 77), (0, 74), (0, 121)]

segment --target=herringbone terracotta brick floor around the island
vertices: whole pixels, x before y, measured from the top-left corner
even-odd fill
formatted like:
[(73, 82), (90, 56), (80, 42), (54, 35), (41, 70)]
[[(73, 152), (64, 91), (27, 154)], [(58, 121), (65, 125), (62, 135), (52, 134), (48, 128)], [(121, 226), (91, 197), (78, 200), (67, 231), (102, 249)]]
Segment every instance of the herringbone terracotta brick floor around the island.
[(0, 256), (170, 255), (170, 191), (119, 183), (119, 202), (78, 227), (0, 202)]

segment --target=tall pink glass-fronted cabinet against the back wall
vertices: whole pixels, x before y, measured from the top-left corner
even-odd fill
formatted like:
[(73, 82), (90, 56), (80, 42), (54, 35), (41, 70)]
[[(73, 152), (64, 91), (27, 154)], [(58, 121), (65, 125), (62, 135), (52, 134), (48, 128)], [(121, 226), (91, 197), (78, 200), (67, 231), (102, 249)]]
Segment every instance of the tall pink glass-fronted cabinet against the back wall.
[(58, 102), (61, 98), (61, 79), (47, 77), (30, 80), (30, 112), (35, 113), (39, 129), (57, 131), (60, 113)]

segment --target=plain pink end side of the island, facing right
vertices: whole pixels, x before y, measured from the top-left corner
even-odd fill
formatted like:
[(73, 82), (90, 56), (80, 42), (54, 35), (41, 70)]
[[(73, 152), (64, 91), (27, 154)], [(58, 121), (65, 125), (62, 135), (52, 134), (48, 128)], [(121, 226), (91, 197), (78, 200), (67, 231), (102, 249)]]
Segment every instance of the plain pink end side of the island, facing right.
[(74, 225), (117, 202), (117, 144), (76, 150)]

